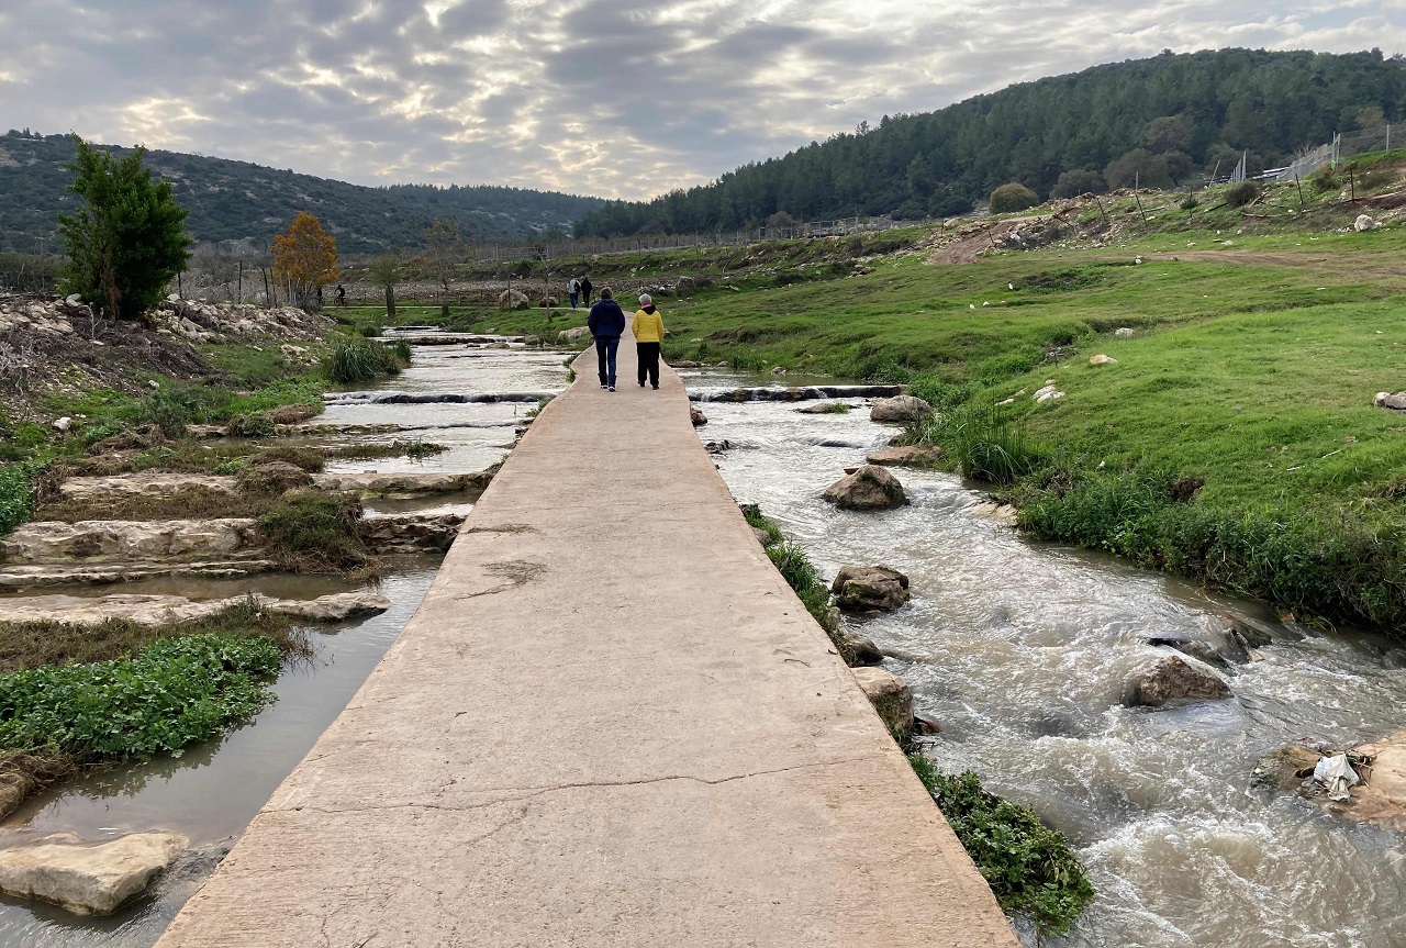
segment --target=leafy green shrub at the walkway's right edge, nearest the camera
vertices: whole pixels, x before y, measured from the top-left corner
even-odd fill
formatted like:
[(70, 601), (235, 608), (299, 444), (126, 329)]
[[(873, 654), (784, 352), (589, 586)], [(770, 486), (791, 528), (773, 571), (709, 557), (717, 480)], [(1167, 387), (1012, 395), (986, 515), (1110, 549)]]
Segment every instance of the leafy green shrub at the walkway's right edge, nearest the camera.
[(922, 754), (908, 762), (1001, 909), (1028, 914), (1042, 933), (1066, 934), (1094, 900), (1094, 886), (1063, 833), (1026, 807), (981, 789), (972, 772), (949, 776)]

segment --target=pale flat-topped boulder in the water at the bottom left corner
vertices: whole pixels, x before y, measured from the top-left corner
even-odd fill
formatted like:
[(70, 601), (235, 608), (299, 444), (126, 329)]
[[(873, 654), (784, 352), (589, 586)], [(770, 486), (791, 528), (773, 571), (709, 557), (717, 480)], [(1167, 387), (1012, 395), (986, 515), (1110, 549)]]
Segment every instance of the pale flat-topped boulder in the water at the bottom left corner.
[(70, 833), (0, 850), (0, 892), (77, 914), (111, 914), (141, 895), (188, 845), (180, 833), (83, 843)]

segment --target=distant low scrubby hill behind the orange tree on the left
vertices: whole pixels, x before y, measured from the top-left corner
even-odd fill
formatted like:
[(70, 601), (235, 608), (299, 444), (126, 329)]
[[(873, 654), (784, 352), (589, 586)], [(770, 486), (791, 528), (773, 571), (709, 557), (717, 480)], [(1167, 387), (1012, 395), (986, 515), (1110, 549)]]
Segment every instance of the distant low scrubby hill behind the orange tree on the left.
[[(117, 153), (129, 149), (104, 146)], [(60, 249), (56, 214), (75, 205), (65, 165), (67, 135), (11, 131), (0, 136), (0, 252)], [(516, 187), (363, 187), (224, 158), (148, 152), (146, 163), (170, 179), (190, 210), (187, 228), (201, 243), (243, 243), (262, 250), (298, 211), (311, 211), (344, 253), (422, 246), (436, 217), (457, 218), (464, 239), (515, 241), (572, 221), (603, 201)]]

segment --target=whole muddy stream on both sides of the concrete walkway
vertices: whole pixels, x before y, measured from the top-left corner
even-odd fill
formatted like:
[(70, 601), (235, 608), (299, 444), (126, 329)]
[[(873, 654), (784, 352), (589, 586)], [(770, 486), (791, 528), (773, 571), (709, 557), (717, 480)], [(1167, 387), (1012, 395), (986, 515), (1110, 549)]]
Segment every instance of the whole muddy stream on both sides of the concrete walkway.
[[(787, 402), (710, 402), (737, 387), (834, 383), (683, 370), (709, 416), (704, 442), (740, 502), (759, 504), (821, 574), (884, 564), (911, 579), (898, 612), (849, 620), (912, 661), (884, 667), (908, 681), (917, 707), (941, 723), (927, 752), (948, 771), (976, 769), (994, 792), (1026, 803), (1077, 847), (1098, 892), (1066, 938), (1022, 942), (1080, 948), (1399, 948), (1406, 945), (1406, 845), (1398, 833), (1329, 816), (1291, 795), (1251, 786), (1257, 758), (1301, 737), (1339, 745), (1403, 726), (1406, 648), (1385, 636), (1313, 633), (1258, 603), (1208, 595), (1118, 560), (1038, 544), (983, 516), (977, 485), (894, 468), (912, 504), (882, 513), (820, 501), (845, 467), (894, 429), (848, 415), (800, 415)], [(531, 392), (565, 385), (562, 353), (474, 345), (415, 349), (415, 363), (380, 391)], [(308, 437), (311, 444), (422, 439), (449, 446), (423, 461), (339, 461), (329, 471), (474, 471), (506, 454), (533, 406), (357, 404), (333, 399), (329, 425), (409, 430)], [(456, 509), (471, 497), (368, 502), (368, 513)], [(277, 702), (180, 758), (118, 767), (37, 796), (6, 820), (24, 837), (84, 838), (172, 828), (218, 852), (243, 831), (399, 634), (439, 567), (389, 564), (377, 589), (394, 608), (314, 632), (316, 657), (288, 668)], [(59, 598), (160, 592), (218, 598), (259, 591), (312, 598), (349, 588), (335, 577), (153, 579), (120, 589), (52, 591)], [(3, 598), (0, 598), (3, 605)], [(1236, 699), (1150, 712), (1121, 705), (1123, 682), (1163, 653), (1147, 636), (1204, 637), (1233, 613), (1272, 636), (1258, 661), (1230, 677)], [(208, 864), (214, 862), (211, 857)], [(0, 948), (121, 945), (160, 937), (208, 865), (174, 872), (157, 892), (105, 920), (0, 899)]]

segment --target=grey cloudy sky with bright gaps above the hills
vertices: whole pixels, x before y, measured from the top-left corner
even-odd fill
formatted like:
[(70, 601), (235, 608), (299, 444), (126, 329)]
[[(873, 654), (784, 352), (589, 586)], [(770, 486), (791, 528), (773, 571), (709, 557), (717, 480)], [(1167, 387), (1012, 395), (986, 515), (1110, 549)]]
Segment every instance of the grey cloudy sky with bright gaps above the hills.
[(0, 37), (0, 129), (647, 197), (1164, 48), (1406, 52), (1406, 0), (3, 0)]

